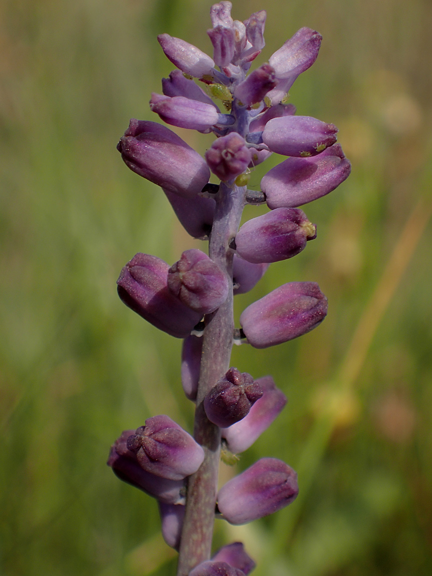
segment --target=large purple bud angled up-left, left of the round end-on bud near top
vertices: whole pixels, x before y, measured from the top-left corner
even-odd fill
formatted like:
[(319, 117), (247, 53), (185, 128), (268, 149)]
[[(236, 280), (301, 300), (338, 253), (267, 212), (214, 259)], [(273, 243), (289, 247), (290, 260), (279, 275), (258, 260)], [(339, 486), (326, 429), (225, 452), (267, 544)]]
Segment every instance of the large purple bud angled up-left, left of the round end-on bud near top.
[(156, 122), (132, 118), (117, 149), (128, 168), (139, 176), (186, 198), (196, 196), (210, 178), (198, 152)]

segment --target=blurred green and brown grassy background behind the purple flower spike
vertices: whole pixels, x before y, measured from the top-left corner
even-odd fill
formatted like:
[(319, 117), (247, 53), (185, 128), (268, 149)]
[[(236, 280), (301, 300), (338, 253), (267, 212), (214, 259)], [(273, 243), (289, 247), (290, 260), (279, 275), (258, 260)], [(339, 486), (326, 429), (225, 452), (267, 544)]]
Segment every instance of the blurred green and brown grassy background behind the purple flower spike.
[[(5, 576), (175, 574), (156, 501), (105, 461), (151, 415), (191, 427), (181, 343), (123, 306), (115, 281), (135, 252), (173, 263), (200, 244), (115, 145), (131, 117), (158, 121), (147, 103), (172, 65), (156, 35), (209, 51), (210, 6), (0, 2)], [(215, 546), (244, 541), (256, 576), (430, 575), (432, 3), (238, 0), (233, 16), (263, 8), (258, 63), (301, 26), (323, 35), (291, 101), (339, 127), (353, 172), (305, 207), (317, 240), (238, 297), (237, 314), (283, 282), (316, 281), (329, 314), (301, 339), (233, 352), (242, 371), (271, 373), (289, 404), (221, 482), (272, 456), (297, 469), (300, 496), (247, 526), (217, 521)]]

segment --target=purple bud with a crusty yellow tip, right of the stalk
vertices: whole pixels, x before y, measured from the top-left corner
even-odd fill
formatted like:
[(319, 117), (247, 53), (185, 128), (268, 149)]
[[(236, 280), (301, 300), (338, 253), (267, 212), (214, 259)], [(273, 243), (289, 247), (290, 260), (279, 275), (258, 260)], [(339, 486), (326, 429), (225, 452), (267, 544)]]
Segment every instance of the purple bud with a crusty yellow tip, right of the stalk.
[(236, 250), (248, 262), (279, 262), (297, 255), (316, 226), (298, 208), (278, 208), (244, 223), (236, 235)]

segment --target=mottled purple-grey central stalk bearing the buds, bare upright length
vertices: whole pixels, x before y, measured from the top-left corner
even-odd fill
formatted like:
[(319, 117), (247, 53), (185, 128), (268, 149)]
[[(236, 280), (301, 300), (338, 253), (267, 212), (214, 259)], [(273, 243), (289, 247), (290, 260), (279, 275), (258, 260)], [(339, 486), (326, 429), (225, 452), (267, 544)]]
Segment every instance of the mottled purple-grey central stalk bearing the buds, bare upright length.
[[(246, 187), (222, 183), (216, 195), (216, 211), (211, 229), (209, 256), (233, 283), (233, 251), (229, 243), (236, 236)], [(186, 510), (181, 532), (177, 576), (210, 559), (216, 503), (221, 430), (204, 412), (203, 399), (229, 368), (233, 345), (233, 291), (224, 304), (204, 318), (203, 351), (196, 399), (194, 438), (204, 449), (204, 461), (188, 479)]]

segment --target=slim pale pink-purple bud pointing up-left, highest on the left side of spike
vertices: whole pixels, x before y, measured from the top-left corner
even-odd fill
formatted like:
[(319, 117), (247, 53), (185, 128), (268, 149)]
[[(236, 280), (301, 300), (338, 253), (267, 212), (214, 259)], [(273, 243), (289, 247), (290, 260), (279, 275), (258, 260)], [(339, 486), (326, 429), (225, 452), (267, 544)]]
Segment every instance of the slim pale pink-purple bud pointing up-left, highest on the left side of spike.
[(195, 78), (202, 78), (204, 74), (211, 73), (214, 67), (213, 60), (196, 46), (169, 34), (160, 34), (157, 39), (165, 56), (181, 71)]

